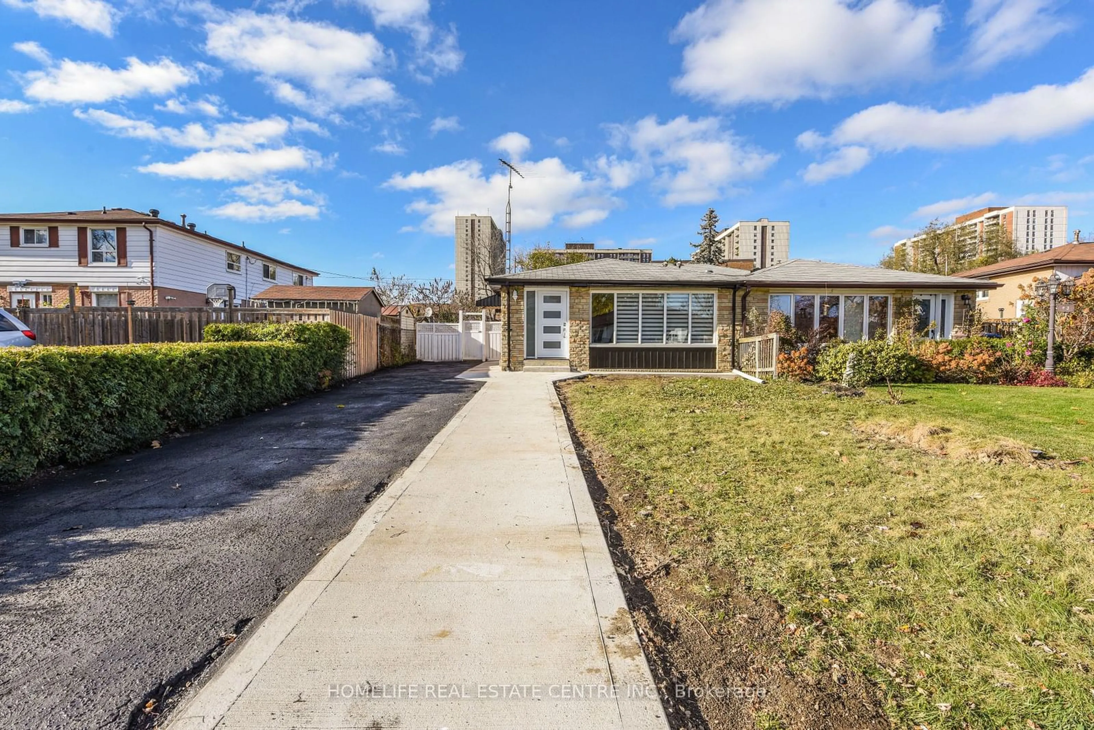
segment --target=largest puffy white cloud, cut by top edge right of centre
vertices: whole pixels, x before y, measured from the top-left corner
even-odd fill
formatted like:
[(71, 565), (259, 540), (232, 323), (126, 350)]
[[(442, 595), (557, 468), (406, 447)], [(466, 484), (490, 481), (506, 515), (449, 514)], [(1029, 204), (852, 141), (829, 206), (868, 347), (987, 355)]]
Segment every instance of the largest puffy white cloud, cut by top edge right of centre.
[(677, 25), (678, 92), (719, 104), (783, 103), (918, 78), (941, 5), (906, 0), (709, 0)]

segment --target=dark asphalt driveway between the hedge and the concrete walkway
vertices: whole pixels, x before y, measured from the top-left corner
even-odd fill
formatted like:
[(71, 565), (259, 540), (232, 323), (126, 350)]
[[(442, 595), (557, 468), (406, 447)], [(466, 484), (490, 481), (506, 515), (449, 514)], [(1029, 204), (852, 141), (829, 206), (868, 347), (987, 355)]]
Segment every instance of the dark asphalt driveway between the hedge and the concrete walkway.
[(474, 395), (464, 368), (383, 371), (0, 494), (0, 727), (143, 727)]

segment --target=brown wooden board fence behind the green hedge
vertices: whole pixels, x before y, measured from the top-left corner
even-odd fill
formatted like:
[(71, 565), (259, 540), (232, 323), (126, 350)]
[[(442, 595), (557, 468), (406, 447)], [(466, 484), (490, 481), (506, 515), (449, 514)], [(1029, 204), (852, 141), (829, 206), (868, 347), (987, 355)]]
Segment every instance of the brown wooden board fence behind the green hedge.
[[(380, 320), (337, 310), (276, 310), (214, 306), (92, 306), (20, 309), (15, 316), (34, 332), (39, 345), (128, 345), (199, 343), (207, 324), (241, 322), (333, 322), (349, 329), (352, 340), (346, 378), (379, 367)], [(231, 318), (230, 318), (231, 316)]]

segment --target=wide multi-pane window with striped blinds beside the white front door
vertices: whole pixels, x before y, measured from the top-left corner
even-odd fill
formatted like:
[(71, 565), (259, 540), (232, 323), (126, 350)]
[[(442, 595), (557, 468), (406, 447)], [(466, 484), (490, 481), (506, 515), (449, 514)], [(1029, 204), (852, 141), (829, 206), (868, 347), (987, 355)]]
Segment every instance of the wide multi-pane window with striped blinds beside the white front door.
[(594, 293), (592, 345), (713, 345), (714, 294)]

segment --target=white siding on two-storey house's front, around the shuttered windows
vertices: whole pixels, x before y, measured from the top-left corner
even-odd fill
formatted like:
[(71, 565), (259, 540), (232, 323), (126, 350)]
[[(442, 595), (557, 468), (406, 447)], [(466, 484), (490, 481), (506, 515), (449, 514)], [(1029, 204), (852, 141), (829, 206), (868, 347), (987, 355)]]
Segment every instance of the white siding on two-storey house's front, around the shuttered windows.
[[(31, 228), (31, 225), (20, 227)], [(34, 228), (46, 228), (35, 224)], [(75, 225), (58, 227), (57, 248), (19, 246), (13, 248), (7, 235), (9, 227), (0, 225), (0, 281), (27, 279), (33, 283), (79, 283), (82, 286), (148, 286), (148, 234), (141, 227), (89, 225), (89, 228), (126, 228), (127, 266), (91, 264), (80, 266), (77, 252)], [(91, 234), (88, 234), (89, 248)], [(90, 253), (89, 253), (90, 255)]]

